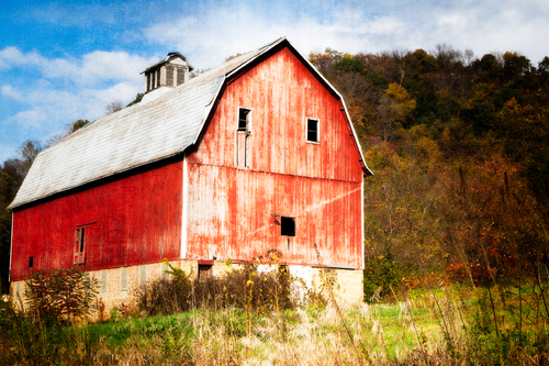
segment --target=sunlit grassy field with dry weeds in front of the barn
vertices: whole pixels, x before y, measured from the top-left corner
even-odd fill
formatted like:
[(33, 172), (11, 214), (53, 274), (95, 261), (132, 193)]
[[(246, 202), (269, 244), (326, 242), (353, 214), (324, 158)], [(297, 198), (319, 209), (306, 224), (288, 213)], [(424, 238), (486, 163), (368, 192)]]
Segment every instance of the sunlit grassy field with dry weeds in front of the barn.
[(452, 285), (340, 312), (333, 303), (199, 309), (34, 331), (4, 311), (12, 331), (2, 336), (1, 357), (13, 365), (541, 365), (544, 298), (534, 287)]

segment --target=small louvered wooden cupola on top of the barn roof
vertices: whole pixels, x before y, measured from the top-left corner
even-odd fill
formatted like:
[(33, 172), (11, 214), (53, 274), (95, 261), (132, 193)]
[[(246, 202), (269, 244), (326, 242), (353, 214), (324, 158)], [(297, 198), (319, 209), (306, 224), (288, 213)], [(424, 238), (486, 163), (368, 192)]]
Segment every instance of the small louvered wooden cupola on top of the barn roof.
[(145, 74), (145, 95), (189, 81), (189, 73), (193, 69), (183, 55), (170, 52), (164, 59), (141, 73)]

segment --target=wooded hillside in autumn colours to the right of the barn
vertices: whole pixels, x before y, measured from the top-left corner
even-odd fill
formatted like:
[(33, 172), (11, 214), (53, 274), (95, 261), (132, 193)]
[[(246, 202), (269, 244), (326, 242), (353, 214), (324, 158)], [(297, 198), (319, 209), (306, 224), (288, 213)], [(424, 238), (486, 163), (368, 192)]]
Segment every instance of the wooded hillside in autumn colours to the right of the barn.
[(535, 67), (442, 45), (310, 59), (344, 95), (376, 175), (367, 297), (401, 280), (482, 285), (547, 266), (548, 57)]

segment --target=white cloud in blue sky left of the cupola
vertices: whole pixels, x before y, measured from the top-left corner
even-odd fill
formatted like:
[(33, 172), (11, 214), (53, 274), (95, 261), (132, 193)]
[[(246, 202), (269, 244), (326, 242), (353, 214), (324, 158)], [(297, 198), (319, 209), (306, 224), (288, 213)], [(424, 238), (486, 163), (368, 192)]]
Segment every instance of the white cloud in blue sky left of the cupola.
[[(33, 68), (37, 65), (38, 78), (29, 80), (27, 76), (18, 88), (12, 86), (13, 80), (1, 87), (2, 97), (19, 102), (18, 112), (3, 122), (43, 134), (58, 131), (77, 119), (101, 118), (108, 103), (127, 103), (143, 91), (139, 73), (156, 60), (102, 51), (80, 58), (48, 59), (37, 53), (7, 47), (0, 51), (0, 67), (19, 67), (26, 73), (31, 65)], [(68, 88), (67, 80), (72, 82)]]

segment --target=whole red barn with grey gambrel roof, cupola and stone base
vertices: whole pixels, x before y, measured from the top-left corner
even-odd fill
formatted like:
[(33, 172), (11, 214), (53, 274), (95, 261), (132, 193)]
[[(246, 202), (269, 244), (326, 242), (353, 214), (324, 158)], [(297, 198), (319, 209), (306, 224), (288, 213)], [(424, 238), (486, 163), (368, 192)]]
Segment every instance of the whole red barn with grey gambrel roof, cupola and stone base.
[(37, 156), (10, 206), (12, 293), (79, 264), (120, 301), (165, 258), (219, 271), (274, 252), (305, 278), (334, 268), (361, 300), (371, 173), (341, 96), (285, 38), (189, 70), (170, 53), (139, 103)]

